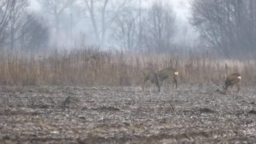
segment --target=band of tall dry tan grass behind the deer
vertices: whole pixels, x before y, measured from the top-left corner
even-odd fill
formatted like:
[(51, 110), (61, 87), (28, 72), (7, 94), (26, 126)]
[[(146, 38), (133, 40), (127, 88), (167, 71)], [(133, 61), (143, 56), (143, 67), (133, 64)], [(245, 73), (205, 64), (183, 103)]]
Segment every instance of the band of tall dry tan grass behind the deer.
[[(172, 65), (179, 71), (178, 83), (223, 84), (232, 72), (242, 75), (242, 84), (256, 84), (256, 62), (223, 60), (176, 53), (144, 54), (100, 51), (98, 47), (55, 50), (38, 55), (6, 51), (0, 54), (0, 83), (7, 85), (140, 85), (141, 69), (155, 71)], [(225, 64), (229, 67), (225, 67)]]

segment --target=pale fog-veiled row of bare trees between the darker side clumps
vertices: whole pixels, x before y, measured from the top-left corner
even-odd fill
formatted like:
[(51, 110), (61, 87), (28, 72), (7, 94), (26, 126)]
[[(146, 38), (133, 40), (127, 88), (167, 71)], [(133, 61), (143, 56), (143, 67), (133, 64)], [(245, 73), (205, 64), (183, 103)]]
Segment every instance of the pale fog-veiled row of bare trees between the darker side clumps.
[(171, 5), (161, 0), (38, 2), (56, 29), (53, 45), (96, 44), (159, 53), (170, 50), (174, 44), (176, 14)]

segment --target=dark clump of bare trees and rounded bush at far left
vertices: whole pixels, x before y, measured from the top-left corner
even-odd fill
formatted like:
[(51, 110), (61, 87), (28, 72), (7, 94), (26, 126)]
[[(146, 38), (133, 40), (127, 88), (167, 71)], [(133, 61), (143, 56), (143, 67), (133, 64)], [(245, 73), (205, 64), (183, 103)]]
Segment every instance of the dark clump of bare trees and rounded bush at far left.
[(48, 47), (48, 27), (28, 0), (0, 0), (0, 50)]

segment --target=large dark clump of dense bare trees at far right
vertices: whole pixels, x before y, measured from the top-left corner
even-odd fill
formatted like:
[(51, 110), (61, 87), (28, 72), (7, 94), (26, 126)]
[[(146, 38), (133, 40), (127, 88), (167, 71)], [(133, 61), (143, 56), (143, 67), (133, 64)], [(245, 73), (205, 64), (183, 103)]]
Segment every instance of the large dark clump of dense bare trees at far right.
[(226, 56), (254, 53), (255, 0), (193, 0), (190, 23), (207, 42)]

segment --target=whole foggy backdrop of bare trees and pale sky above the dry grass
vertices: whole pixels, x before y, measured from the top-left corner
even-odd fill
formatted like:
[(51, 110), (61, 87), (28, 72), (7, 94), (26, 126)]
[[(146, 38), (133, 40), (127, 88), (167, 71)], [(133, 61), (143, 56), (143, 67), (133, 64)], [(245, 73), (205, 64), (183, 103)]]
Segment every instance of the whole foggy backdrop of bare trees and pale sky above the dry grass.
[(1, 0), (0, 45), (224, 56), (255, 52), (256, 2), (214, 0)]

